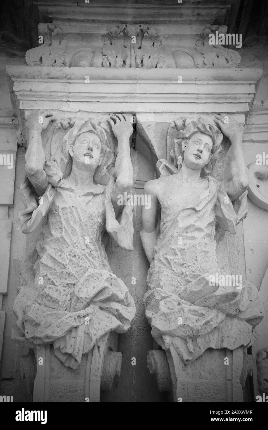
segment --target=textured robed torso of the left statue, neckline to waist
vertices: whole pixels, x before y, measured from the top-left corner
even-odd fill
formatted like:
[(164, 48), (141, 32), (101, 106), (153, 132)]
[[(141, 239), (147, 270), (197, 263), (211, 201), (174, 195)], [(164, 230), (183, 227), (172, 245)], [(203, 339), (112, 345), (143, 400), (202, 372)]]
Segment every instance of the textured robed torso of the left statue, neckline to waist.
[(110, 270), (102, 232), (105, 187), (83, 190), (65, 181), (57, 188), (37, 243), (36, 277), (57, 286), (74, 284), (91, 269)]

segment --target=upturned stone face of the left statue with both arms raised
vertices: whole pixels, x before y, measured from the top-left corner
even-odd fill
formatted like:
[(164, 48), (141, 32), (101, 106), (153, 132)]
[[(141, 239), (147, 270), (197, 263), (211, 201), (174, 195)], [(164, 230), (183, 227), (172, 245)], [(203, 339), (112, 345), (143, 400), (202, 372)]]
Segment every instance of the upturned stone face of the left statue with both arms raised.
[(69, 153), (73, 163), (79, 164), (84, 169), (96, 169), (102, 161), (101, 141), (92, 132), (80, 134), (74, 145), (70, 145)]

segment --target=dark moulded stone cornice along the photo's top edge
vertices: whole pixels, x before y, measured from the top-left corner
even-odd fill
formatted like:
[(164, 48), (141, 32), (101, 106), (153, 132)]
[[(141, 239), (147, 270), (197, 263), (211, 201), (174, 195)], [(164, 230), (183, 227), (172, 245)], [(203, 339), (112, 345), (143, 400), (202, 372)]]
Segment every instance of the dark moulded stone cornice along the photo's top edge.
[[(77, 3), (79, 6), (77, 6)], [(183, 0), (177, 3), (175, 0), (163, 4), (127, 3), (99, 3), (91, 1), (60, 1), (46, 2), (35, 1), (38, 6), (41, 21), (68, 20), (78, 22), (139, 22), (139, 23), (184, 23), (191, 24), (194, 21), (213, 23), (216, 19), (225, 17), (226, 10), (230, 9), (228, 2), (222, 1), (198, 1), (193, 3)], [(222, 22), (223, 23), (223, 22)]]

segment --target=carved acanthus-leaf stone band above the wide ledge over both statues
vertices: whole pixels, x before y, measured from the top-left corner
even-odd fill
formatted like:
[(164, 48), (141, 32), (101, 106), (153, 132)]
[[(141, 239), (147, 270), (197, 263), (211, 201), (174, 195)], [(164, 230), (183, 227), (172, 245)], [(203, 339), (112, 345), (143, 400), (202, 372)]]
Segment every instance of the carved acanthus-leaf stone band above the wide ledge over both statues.
[[(235, 68), (240, 55), (209, 44), (226, 26), (210, 25), (198, 34), (166, 34), (143, 24), (118, 24), (101, 33), (67, 33), (56, 24), (38, 26), (43, 44), (26, 52), (29, 66), (107, 68)], [(78, 29), (77, 29), (78, 30)], [(91, 30), (92, 31), (92, 30)]]

